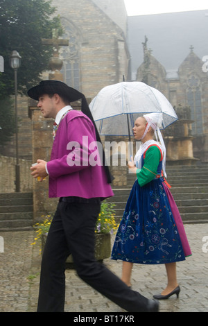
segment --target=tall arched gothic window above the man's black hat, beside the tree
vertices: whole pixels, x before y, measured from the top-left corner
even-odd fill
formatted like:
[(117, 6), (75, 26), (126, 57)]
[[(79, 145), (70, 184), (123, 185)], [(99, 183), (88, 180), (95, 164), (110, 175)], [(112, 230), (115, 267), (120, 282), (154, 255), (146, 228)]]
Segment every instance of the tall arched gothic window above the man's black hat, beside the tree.
[(60, 48), (60, 58), (63, 61), (62, 74), (64, 83), (80, 90), (80, 60), (78, 51), (78, 32), (67, 19), (62, 18), (64, 35), (62, 38), (69, 40), (69, 46)]

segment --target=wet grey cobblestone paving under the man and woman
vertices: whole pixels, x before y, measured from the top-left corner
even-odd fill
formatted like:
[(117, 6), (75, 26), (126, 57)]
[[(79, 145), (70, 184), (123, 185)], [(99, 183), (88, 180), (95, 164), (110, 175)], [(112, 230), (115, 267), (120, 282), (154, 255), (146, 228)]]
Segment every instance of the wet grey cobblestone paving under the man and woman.
[[(180, 297), (160, 301), (161, 312), (208, 311), (208, 224), (185, 225), (185, 229), (193, 256), (177, 264)], [(38, 246), (31, 246), (34, 232), (3, 232), (0, 236), (4, 240), (4, 252), (0, 253), (0, 312), (35, 312), (41, 256)], [(121, 261), (106, 259), (105, 264), (120, 277)], [(123, 312), (81, 281), (73, 270), (66, 271), (66, 284), (66, 312)], [(133, 289), (146, 297), (160, 293), (164, 284), (163, 265), (134, 266)]]

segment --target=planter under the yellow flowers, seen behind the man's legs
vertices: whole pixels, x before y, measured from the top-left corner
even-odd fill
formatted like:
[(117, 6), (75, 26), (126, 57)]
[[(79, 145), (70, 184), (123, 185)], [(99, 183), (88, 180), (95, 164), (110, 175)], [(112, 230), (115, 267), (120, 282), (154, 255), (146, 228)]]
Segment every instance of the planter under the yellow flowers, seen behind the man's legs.
[[(95, 234), (95, 257), (97, 261), (109, 258), (111, 255), (111, 239), (110, 233), (96, 233)], [(46, 243), (47, 234), (42, 234), (42, 252)], [(66, 261), (67, 268), (73, 268), (73, 257), (69, 255)]]

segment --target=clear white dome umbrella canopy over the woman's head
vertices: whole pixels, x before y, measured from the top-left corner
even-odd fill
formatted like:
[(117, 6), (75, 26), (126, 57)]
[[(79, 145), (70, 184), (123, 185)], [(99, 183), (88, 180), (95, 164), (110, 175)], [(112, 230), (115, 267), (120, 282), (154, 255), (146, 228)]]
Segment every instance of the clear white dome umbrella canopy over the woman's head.
[(131, 127), (135, 119), (151, 112), (161, 112), (162, 129), (177, 121), (171, 103), (157, 89), (141, 82), (123, 82), (101, 89), (89, 104), (101, 135), (129, 135), (126, 114)]

